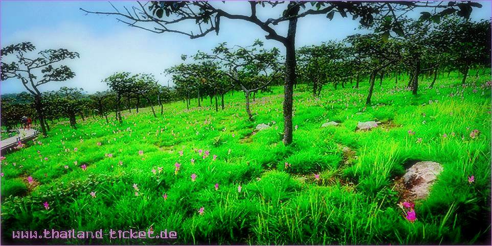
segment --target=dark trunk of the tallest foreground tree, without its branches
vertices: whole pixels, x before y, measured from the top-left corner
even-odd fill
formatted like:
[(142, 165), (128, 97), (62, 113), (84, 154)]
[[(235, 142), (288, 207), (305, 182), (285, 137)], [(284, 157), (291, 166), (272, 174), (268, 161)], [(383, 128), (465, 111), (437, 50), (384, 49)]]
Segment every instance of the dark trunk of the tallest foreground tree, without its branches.
[(284, 84), (284, 102), (283, 102), (283, 116), (284, 116), (284, 136), (283, 143), (288, 145), (292, 143), (292, 104), (294, 97), (294, 84), (296, 83), (296, 29), (297, 29), (297, 15), (299, 13), (299, 5), (290, 4), (291, 8), (288, 9), (288, 16), (292, 16), (289, 19), (287, 38), (284, 42), (285, 53), (285, 84)]

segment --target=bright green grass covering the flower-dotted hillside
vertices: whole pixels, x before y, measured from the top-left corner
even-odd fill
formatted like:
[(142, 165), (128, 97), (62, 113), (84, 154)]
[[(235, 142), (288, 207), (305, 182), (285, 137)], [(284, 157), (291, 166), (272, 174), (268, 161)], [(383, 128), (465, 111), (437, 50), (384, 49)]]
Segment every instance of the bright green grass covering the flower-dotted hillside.
[[(9, 240), (12, 230), (152, 227), (176, 231), (178, 238), (45, 243), (483, 242), (490, 234), (491, 101), (490, 87), (481, 86), (490, 77), (469, 77), (462, 87), (460, 75), (453, 72), (428, 89), (431, 79), (424, 78), (413, 96), (404, 89), (405, 80), (400, 78), (395, 88), (394, 78), (387, 78), (383, 87), (376, 84), (373, 106), (367, 108), (367, 81), (359, 90), (325, 86), (320, 99), (298, 85), (297, 130), (289, 146), (281, 141), (281, 87), (257, 95), (255, 122), (247, 120), (240, 92), (226, 95), (226, 109), (219, 112), (206, 99), (204, 107), (190, 110), (182, 102), (165, 105), (164, 115), (157, 118), (149, 109), (124, 112), (122, 125), (87, 118), (79, 119), (73, 130), (62, 122), (52, 126), (48, 138), (40, 137), (40, 143), (2, 161), (2, 236)], [(341, 124), (321, 128), (329, 120)], [(383, 126), (354, 131), (358, 121), (367, 120), (382, 121)], [(252, 135), (260, 123), (272, 127)], [(480, 135), (471, 138), (475, 129)], [(355, 156), (347, 160), (344, 146)], [(203, 159), (195, 152), (199, 149), (210, 156)], [(436, 161), (444, 167), (428, 199), (416, 203), (414, 223), (397, 205), (393, 180), (404, 174), (408, 160)], [(181, 163), (177, 175), (176, 162)], [(475, 182), (469, 184), (471, 175)], [(27, 176), (35, 185), (26, 183)], [(201, 207), (203, 215), (198, 213)]]

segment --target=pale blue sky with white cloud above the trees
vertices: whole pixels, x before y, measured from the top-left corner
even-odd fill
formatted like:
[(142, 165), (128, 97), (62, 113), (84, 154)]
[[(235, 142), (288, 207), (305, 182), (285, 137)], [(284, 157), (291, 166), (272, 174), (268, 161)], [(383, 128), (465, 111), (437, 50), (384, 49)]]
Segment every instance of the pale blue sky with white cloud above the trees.
[[(491, 3), (477, 1), (483, 5), (474, 9), (472, 19), (489, 19)], [(114, 1), (116, 7), (131, 6), (135, 2)], [(244, 13), (247, 2), (215, 2), (234, 13)], [(0, 46), (30, 41), (37, 50), (67, 48), (80, 54), (79, 59), (63, 63), (76, 73), (75, 78), (64, 82), (50, 82), (40, 86), (41, 91), (57, 90), (62, 86), (83, 88), (88, 93), (106, 90), (101, 82), (119, 71), (152, 73), (162, 85), (171, 85), (164, 69), (182, 62), (181, 55), (193, 55), (196, 51), (210, 52), (220, 42), (230, 45), (250, 45), (255, 39), (264, 41), (266, 48), (279, 47), (274, 40), (265, 40), (266, 33), (246, 21), (221, 19), (220, 33), (210, 33), (203, 38), (190, 39), (173, 33), (155, 34), (128, 27), (115, 17), (86, 15), (79, 10), (111, 11), (107, 1), (0, 1)], [(258, 16), (263, 21), (268, 17), (279, 17), (281, 9), (268, 12), (260, 8)], [(418, 16), (418, 12), (412, 13)], [(183, 30), (194, 28), (193, 24), (182, 25)], [(324, 15), (309, 16), (298, 21), (296, 47), (319, 44), (323, 41), (342, 40), (348, 35), (365, 32), (357, 27), (359, 22), (351, 18), (335, 16), (328, 21)], [(285, 34), (286, 23), (275, 27), (279, 34)], [(33, 56), (35, 53), (32, 54)], [(7, 60), (6, 60), (7, 61)], [(26, 91), (20, 81), (10, 79), (0, 83), (0, 92), (16, 93)]]

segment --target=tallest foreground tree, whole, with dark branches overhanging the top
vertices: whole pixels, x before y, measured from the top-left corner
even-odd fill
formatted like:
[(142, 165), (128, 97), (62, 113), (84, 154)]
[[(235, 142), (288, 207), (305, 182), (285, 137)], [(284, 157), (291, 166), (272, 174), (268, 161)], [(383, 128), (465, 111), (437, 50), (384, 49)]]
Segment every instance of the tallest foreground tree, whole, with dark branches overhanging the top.
[[(296, 83), (296, 31), (297, 21), (300, 18), (309, 15), (326, 15), (328, 19), (332, 19), (335, 13), (339, 13), (342, 17), (352, 16), (353, 19), (360, 19), (360, 23), (364, 26), (373, 24), (374, 19), (390, 18), (393, 22), (390, 26), (384, 27), (384, 32), (388, 33), (393, 30), (400, 33), (398, 27), (397, 13), (406, 13), (415, 8), (432, 8), (443, 9), (434, 15), (444, 15), (456, 12), (460, 16), (469, 16), (472, 7), (481, 7), (477, 3), (461, 3), (461, 2), (264, 2), (250, 1), (250, 13), (233, 14), (227, 8), (216, 6), (215, 3), (196, 1), (196, 2), (164, 2), (152, 1), (147, 3), (137, 2), (136, 6), (132, 6), (128, 11), (125, 7), (125, 12), (119, 11), (115, 6), (114, 12), (99, 12), (87, 11), (81, 9), (85, 13), (115, 15), (118, 20), (128, 24), (131, 27), (140, 28), (153, 33), (178, 33), (186, 35), (190, 38), (203, 37), (213, 31), (218, 35), (220, 30), (220, 20), (223, 18), (237, 19), (255, 24), (258, 28), (265, 31), (266, 39), (272, 39), (280, 42), (286, 51), (285, 56), (285, 83), (284, 83), (284, 144), (292, 143), (292, 108), (293, 108), (293, 93), (294, 84)], [(266, 20), (260, 20), (256, 14), (257, 7), (263, 8), (284, 8), (280, 17), (274, 16)], [(301, 10), (302, 9), (302, 10)], [(275, 11), (270, 11), (275, 13)], [(427, 13), (427, 12), (425, 12)], [(277, 14), (275, 14), (277, 15)], [(429, 14), (432, 15), (432, 14)], [(194, 22), (196, 30), (184, 31), (176, 28), (188, 27), (183, 25), (186, 22)], [(287, 22), (287, 35), (279, 35), (272, 26), (279, 23)], [(153, 26), (151, 26), (153, 25)]]

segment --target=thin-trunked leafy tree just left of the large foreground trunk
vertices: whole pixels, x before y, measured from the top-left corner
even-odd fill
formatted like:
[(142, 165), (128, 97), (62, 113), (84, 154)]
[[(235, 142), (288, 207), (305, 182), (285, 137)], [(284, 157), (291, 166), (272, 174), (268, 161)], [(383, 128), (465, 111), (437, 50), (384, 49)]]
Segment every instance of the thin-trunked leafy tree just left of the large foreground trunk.
[(219, 62), (222, 65), (222, 72), (244, 92), (246, 112), (250, 121), (253, 121), (250, 109), (251, 93), (265, 89), (279, 73), (279, 50), (277, 48), (258, 50), (257, 47), (262, 45), (259, 40), (246, 47), (238, 45), (227, 47), (227, 43), (220, 43), (211, 54), (198, 52), (194, 56), (195, 60)]

